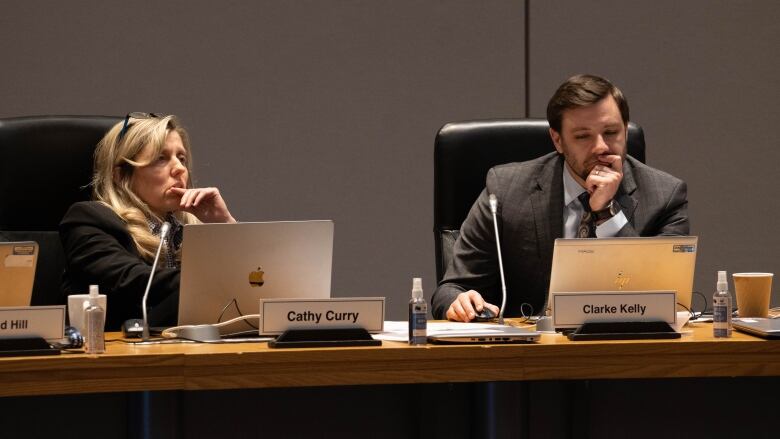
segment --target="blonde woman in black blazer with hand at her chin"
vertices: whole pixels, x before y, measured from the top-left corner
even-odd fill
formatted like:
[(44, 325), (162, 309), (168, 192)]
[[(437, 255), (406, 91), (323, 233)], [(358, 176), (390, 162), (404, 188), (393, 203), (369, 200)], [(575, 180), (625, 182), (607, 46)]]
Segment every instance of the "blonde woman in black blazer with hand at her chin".
[(71, 206), (60, 223), (65, 294), (97, 284), (107, 295), (106, 328), (141, 317), (141, 298), (171, 223), (147, 299), (150, 325), (176, 324), (182, 225), (234, 223), (217, 188), (193, 188), (187, 132), (175, 116), (131, 113), (95, 150), (95, 201)]

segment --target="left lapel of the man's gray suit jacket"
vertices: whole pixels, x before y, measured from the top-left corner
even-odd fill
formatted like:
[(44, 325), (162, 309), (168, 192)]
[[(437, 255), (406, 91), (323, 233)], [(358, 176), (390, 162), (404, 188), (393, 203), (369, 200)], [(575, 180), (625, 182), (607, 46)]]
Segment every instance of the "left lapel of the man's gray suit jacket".
[(542, 260), (552, 259), (555, 239), (563, 236), (563, 159), (556, 155), (536, 179), (531, 205), (536, 226), (536, 242)]

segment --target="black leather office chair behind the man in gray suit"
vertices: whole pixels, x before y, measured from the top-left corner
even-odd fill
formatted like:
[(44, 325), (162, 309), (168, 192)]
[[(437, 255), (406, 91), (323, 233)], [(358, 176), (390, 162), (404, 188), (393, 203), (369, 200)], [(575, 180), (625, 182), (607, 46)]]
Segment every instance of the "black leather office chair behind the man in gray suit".
[[(452, 258), (452, 246), (493, 166), (522, 162), (555, 151), (544, 119), (453, 122), (436, 134), (433, 151), (433, 234), (436, 281)], [(645, 135), (629, 122), (628, 154), (644, 163)]]

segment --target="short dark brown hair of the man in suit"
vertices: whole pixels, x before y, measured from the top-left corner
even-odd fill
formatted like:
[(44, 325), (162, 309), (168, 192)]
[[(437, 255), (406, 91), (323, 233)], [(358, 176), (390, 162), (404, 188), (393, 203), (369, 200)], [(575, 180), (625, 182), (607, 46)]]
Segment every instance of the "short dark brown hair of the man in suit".
[(623, 124), (627, 124), (628, 101), (619, 88), (595, 75), (576, 75), (561, 84), (547, 103), (547, 122), (550, 123), (550, 128), (560, 133), (564, 111), (593, 105), (608, 95), (615, 99)]

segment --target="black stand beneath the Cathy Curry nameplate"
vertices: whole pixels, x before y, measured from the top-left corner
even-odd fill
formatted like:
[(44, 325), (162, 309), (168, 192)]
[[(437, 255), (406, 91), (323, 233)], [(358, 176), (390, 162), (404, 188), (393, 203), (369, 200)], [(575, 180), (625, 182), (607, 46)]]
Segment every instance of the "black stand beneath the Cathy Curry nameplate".
[(288, 329), (268, 342), (271, 348), (313, 348), (339, 346), (381, 346), (363, 328)]

